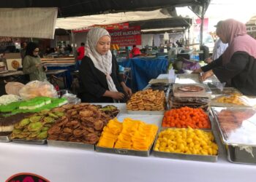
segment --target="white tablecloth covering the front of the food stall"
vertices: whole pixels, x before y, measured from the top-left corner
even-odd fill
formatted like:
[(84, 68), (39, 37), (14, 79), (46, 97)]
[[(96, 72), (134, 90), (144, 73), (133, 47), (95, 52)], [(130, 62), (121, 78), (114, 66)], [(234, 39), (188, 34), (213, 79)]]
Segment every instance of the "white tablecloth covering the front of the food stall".
[[(124, 111), (124, 104), (118, 104)], [(121, 114), (157, 124), (161, 116)], [(133, 157), (82, 149), (0, 143), (0, 181), (15, 173), (35, 173), (52, 182), (255, 182), (255, 165), (227, 162), (221, 148), (218, 162)]]

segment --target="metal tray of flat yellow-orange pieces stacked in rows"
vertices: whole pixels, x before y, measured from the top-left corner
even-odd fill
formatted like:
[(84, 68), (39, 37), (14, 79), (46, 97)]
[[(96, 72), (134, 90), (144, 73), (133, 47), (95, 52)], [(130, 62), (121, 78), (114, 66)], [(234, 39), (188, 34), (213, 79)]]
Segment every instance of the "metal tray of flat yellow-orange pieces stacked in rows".
[[(138, 117), (141, 118), (143, 115), (138, 115)], [(160, 119), (162, 117), (158, 115), (151, 117), (151, 119), (153, 118)], [(111, 119), (104, 127), (95, 150), (110, 154), (148, 157), (157, 131), (157, 124), (149, 124), (139, 119), (126, 117), (123, 122)]]

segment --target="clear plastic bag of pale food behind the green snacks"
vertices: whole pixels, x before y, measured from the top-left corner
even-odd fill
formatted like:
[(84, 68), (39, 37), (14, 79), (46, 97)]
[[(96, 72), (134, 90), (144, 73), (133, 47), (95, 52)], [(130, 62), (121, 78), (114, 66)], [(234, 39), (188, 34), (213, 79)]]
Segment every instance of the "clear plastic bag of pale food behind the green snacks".
[(39, 82), (37, 80), (29, 82), (20, 90), (20, 97), (23, 100), (45, 96), (49, 98), (57, 98), (57, 92), (50, 82)]

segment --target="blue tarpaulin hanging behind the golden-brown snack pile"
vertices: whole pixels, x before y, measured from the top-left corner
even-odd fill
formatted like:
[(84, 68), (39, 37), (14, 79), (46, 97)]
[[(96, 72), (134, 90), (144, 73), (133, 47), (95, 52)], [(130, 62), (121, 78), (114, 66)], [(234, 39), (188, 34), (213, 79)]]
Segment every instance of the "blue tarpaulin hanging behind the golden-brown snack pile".
[(167, 72), (166, 58), (131, 58), (118, 62), (119, 65), (131, 68), (132, 82), (127, 82), (133, 92), (143, 90), (151, 79)]

